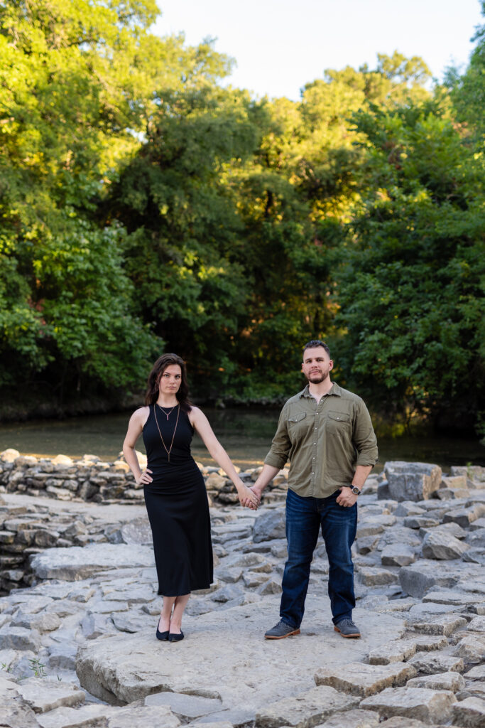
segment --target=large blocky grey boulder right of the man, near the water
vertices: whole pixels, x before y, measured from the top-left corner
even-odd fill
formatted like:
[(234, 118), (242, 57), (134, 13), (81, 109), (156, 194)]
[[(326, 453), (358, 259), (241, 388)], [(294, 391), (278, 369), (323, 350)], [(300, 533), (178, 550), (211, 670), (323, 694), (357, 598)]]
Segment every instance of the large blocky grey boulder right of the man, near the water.
[(386, 462), (385, 477), (390, 497), (397, 501), (422, 501), (430, 498), (441, 484), (441, 467), (423, 462)]

